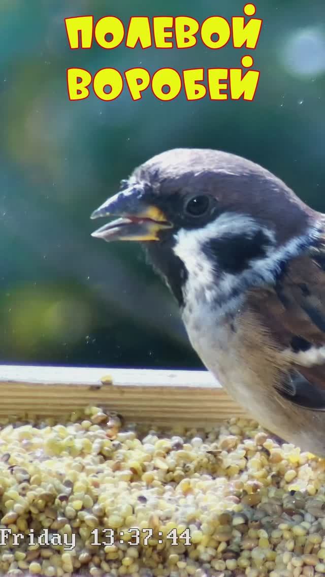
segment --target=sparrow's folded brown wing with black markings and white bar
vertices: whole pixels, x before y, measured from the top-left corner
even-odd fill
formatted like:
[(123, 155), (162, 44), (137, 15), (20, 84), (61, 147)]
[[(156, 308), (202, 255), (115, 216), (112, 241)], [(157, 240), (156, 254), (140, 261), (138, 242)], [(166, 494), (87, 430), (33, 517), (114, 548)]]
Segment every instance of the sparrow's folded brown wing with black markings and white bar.
[(297, 405), (325, 410), (325, 243), (294, 259), (275, 287), (253, 290), (249, 306), (290, 370), (277, 389)]

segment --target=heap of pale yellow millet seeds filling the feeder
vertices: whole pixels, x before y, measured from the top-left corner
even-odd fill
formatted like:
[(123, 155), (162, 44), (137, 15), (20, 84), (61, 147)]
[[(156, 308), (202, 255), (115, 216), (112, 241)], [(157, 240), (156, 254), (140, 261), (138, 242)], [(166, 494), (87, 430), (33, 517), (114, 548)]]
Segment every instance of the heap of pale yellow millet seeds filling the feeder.
[[(1, 575), (325, 575), (324, 462), (256, 422), (161, 432), (89, 407), (59, 424), (0, 425)], [(94, 545), (92, 531), (107, 541), (107, 527), (113, 542)]]

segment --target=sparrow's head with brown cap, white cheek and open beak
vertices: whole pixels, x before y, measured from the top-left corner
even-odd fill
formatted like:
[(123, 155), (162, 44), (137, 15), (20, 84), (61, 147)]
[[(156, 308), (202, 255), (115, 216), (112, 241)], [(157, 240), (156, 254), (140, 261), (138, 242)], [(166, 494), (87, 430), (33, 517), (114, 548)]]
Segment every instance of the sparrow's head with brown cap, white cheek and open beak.
[(197, 294), (210, 287), (212, 298), (240, 279), (256, 283), (263, 263), (270, 280), (271, 263), (285, 260), (286, 252), (292, 256), (315, 220), (273, 174), (209, 149), (174, 149), (141, 164), (121, 192), (92, 213), (103, 216), (118, 218), (92, 235), (144, 243), (180, 305), (191, 279)]

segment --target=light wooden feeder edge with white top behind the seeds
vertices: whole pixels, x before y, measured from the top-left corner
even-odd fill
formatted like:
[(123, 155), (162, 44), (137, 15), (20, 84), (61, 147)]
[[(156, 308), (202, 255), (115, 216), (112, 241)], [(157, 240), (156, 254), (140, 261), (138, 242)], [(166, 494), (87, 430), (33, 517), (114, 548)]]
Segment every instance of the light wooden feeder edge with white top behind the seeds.
[(160, 426), (244, 415), (207, 371), (0, 365), (0, 395), (1, 416), (57, 416), (89, 404)]

